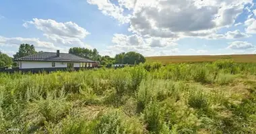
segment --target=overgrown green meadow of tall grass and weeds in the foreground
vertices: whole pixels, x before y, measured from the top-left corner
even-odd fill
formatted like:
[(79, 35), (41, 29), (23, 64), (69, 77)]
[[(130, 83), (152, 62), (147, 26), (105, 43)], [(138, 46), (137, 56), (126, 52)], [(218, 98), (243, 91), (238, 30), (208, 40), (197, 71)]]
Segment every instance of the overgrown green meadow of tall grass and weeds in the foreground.
[(256, 133), (256, 64), (0, 74), (0, 133)]

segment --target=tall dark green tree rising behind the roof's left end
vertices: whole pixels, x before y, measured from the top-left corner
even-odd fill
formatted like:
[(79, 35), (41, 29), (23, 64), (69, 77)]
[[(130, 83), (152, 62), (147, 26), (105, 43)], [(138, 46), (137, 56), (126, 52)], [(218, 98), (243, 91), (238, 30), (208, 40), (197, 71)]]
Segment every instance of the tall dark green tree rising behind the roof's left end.
[(30, 44), (21, 44), (19, 51), (13, 55), (13, 58), (21, 58), (24, 56), (29, 56), (31, 54), (36, 54), (36, 50), (34, 48), (34, 45)]

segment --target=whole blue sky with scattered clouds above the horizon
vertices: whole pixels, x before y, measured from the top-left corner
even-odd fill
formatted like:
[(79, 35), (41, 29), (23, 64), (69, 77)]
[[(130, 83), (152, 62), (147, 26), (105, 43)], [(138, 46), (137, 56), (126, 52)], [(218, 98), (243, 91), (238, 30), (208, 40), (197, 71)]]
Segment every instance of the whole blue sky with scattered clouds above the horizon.
[(256, 0), (1, 0), (0, 51), (256, 53)]

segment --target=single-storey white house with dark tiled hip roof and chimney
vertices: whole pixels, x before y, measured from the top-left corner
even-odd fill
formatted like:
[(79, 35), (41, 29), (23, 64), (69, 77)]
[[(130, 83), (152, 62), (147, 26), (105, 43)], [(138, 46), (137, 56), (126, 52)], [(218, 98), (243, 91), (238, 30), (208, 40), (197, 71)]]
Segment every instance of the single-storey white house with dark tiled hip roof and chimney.
[(20, 69), (29, 68), (92, 68), (96, 62), (73, 54), (57, 52), (41, 52), (22, 58), (16, 58)]

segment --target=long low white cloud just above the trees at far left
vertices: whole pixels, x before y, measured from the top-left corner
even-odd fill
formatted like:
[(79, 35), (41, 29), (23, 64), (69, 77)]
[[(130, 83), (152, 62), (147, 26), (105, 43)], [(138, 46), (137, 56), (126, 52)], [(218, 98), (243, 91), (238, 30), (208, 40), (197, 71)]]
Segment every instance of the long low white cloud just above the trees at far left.
[(35, 48), (44, 50), (57, 50), (57, 48), (51, 42), (42, 42), (38, 38), (5, 38), (0, 36), (0, 46), (9, 46), (18, 48), (20, 44), (32, 44)]

